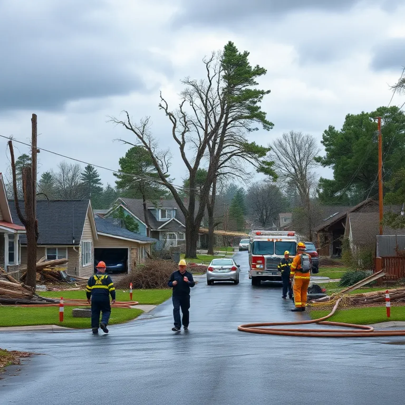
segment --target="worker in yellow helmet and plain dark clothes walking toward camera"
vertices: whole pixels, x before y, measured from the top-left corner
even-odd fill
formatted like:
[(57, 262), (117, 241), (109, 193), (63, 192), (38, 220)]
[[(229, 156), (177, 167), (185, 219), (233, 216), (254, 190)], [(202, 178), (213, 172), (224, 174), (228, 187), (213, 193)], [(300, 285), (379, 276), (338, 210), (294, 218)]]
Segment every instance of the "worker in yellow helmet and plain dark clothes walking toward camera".
[[(190, 322), (190, 287), (194, 287), (193, 275), (188, 271), (187, 263), (184, 259), (179, 262), (179, 270), (175, 271), (168, 282), (169, 287), (173, 287), (173, 317), (175, 318), (175, 326), (172, 328), (174, 332), (178, 332), (183, 324), (184, 330), (188, 329)], [(183, 319), (180, 319), (180, 308), (183, 313)]]

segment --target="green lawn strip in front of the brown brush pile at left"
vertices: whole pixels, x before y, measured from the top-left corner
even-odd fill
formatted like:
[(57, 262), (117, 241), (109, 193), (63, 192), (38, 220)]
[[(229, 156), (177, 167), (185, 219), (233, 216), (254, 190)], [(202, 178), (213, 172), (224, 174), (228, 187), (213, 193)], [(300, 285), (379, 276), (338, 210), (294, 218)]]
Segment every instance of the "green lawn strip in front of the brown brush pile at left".
[[(86, 299), (86, 292), (77, 290), (66, 291), (41, 291), (38, 295), (51, 298)], [(172, 296), (172, 290), (133, 290), (132, 301), (139, 304), (159, 305)], [(117, 301), (130, 301), (129, 290), (115, 290)]]

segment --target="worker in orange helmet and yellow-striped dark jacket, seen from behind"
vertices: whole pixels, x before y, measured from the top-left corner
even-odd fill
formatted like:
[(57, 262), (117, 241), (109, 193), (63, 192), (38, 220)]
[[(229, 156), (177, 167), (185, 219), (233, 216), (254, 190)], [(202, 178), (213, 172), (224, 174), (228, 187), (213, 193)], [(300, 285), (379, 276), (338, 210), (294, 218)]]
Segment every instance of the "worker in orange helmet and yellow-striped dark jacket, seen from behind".
[[(86, 286), (87, 302), (92, 304), (92, 331), (98, 334), (98, 326), (108, 333), (107, 325), (111, 315), (111, 304), (115, 303), (115, 288), (113, 280), (105, 274), (105, 263), (98, 262), (97, 273), (90, 277)], [(100, 312), (102, 313), (100, 322)], [(100, 322), (100, 324), (99, 324)]]

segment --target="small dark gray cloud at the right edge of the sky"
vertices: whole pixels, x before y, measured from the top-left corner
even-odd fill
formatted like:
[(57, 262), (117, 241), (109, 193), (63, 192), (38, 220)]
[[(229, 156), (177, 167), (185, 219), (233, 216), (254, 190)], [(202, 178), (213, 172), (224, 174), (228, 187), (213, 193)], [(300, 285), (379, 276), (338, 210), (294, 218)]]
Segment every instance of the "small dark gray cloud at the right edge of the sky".
[(405, 39), (392, 38), (374, 48), (374, 70), (401, 70), (405, 66)]

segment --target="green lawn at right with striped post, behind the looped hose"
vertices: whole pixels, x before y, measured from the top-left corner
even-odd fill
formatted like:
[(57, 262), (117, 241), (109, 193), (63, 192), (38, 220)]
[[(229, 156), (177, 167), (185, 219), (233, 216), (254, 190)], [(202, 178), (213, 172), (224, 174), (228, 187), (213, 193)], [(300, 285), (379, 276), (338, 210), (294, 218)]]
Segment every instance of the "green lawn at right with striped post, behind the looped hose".
[[(328, 315), (330, 311), (315, 311), (311, 310), (310, 315), (312, 319), (322, 318)], [(348, 324), (356, 325), (369, 325), (377, 324), (379, 322), (388, 321), (404, 321), (405, 320), (405, 307), (391, 307), (391, 316), (387, 318), (385, 306), (371, 307), (371, 308), (356, 308), (345, 309), (337, 311), (335, 315), (328, 318), (332, 322), (346, 322)]]

